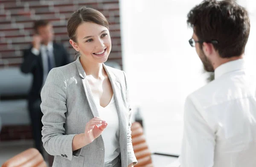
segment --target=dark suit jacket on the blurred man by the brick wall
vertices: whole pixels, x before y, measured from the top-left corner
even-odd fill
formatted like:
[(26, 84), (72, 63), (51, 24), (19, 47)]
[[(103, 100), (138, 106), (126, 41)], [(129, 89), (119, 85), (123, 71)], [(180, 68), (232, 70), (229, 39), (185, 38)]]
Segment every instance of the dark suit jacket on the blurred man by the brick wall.
[[(35, 100), (40, 99), (40, 91), (43, 85), (44, 70), (41, 53), (34, 55), (31, 52), (32, 46), (29, 49), (23, 51), (23, 63), (20, 69), (23, 73), (32, 73), (33, 83), (29, 91), (28, 99), (29, 104), (33, 104)], [(53, 43), (53, 54), (56, 67), (64, 66), (69, 62), (69, 56), (64, 49), (64, 46), (58, 43)]]

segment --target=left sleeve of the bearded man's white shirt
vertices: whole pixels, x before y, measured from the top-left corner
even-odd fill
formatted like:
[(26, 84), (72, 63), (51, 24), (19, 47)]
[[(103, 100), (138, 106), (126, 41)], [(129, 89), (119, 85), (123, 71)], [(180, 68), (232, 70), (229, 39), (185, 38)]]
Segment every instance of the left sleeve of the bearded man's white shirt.
[(215, 133), (201, 115), (201, 108), (195, 105), (195, 101), (189, 96), (185, 102), (180, 167), (212, 167)]

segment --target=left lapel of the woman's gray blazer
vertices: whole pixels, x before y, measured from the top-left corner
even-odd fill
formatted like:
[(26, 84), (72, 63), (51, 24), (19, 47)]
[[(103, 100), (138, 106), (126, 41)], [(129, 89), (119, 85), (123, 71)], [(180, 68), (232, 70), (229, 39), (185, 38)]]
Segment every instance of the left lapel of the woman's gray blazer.
[(80, 62), (80, 57), (76, 59), (76, 67), (78, 69), (79, 76), (82, 78), (81, 80), (82, 80), (82, 83), (83, 83), (84, 92), (85, 92), (88, 104), (90, 106), (91, 112), (93, 113), (94, 117), (99, 117), (99, 112), (98, 112), (98, 109), (97, 109), (97, 107), (94, 103), (93, 95), (92, 95), (91, 90), (90, 90), (90, 85), (87, 81), (86, 74), (85, 74), (83, 66)]

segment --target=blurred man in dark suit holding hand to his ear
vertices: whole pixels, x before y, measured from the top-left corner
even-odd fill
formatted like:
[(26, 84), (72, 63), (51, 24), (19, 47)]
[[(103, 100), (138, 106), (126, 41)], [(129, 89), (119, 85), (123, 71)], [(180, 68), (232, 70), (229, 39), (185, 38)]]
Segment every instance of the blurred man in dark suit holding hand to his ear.
[(64, 66), (70, 62), (64, 46), (53, 42), (54, 32), (51, 23), (47, 20), (35, 21), (34, 30), (32, 46), (23, 51), (24, 60), (20, 69), (23, 73), (32, 73), (33, 75), (33, 83), (28, 95), (28, 108), (35, 147), (43, 155), (41, 89), (52, 68)]

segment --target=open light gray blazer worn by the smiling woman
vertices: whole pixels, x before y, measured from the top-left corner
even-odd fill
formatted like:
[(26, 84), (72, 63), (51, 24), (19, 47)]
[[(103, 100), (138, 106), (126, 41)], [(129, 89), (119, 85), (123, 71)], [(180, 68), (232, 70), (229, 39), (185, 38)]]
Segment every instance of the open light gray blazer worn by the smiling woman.
[[(105, 66), (110, 79), (119, 116), (119, 144), (122, 167), (137, 164), (131, 143), (131, 108), (125, 73)], [(43, 112), (42, 141), (50, 155), (52, 167), (104, 167), (105, 146), (102, 136), (72, 152), (72, 140), (84, 133), (85, 125), (99, 116), (80, 58), (49, 72), (41, 91)]]

